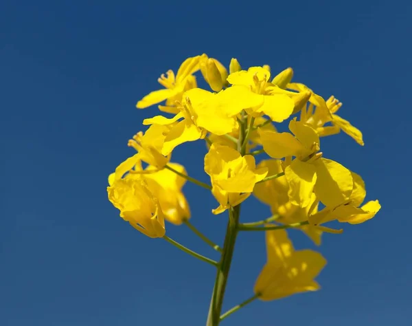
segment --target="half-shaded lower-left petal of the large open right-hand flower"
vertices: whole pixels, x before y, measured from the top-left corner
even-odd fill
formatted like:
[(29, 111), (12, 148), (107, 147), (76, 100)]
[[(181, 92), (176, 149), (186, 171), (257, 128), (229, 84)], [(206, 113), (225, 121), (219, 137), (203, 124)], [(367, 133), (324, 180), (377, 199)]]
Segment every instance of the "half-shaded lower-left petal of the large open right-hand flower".
[(308, 206), (317, 180), (316, 168), (312, 164), (295, 159), (286, 167), (285, 177), (290, 186), (290, 202), (302, 208)]

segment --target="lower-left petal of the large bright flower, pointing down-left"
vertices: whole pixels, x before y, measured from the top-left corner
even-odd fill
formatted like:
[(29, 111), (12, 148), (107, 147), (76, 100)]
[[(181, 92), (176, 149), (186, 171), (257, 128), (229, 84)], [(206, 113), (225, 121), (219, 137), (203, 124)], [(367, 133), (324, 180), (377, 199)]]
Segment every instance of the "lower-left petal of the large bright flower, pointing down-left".
[(165, 142), (161, 153), (169, 155), (174, 147), (183, 144), (184, 142), (193, 142), (202, 137), (202, 132), (192, 122), (186, 120), (180, 121), (166, 135)]

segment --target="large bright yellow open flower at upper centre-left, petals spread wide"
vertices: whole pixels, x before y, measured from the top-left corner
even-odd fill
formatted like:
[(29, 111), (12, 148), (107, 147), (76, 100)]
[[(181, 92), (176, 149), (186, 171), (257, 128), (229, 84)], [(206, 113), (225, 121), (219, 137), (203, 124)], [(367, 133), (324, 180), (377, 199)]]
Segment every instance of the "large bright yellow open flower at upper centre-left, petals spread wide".
[(174, 124), (165, 136), (163, 155), (169, 155), (173, 149), (184, 142), (205, 138), (207, 131), (216, 135), (225, 135), (238, 128), (236, 116), (242, 109), (260, 105), (261, 98), (249, 96), (243, 86), (229, 87), (218, 94), (196, 88), (185, 92), (180, 112), (174, 118), (155, 116), (145, 119), (143, 124)]

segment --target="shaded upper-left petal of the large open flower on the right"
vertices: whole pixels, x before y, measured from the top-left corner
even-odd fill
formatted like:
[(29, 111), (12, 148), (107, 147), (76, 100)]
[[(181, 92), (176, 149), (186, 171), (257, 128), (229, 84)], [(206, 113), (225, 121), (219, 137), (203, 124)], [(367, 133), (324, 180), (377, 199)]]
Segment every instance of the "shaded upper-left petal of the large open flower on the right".
[(263, 149), (273, 158), (297, 156), (305, 150), (304, 146), (291, 133), (274, 133), (258, 129)]

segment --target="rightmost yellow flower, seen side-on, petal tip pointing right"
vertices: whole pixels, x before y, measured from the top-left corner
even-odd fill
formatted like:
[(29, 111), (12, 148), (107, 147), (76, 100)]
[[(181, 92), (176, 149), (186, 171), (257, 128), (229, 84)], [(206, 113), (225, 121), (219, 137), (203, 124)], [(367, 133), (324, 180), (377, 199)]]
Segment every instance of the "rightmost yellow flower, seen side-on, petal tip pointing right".
[(354, 180), (354, 189), (347, 202), (338, 206), (323, 208), (319, 213), (309, 217), (310, 224), (319, 225), (335, 219), (349, 224), (360, 224), (373, 218), (378, 213), (380, 210), (378, 200), (369, 201), (361, 206), (366, 196), (365, 182), (363, 182), (360, 175), (354, 172), (351, 173)]

